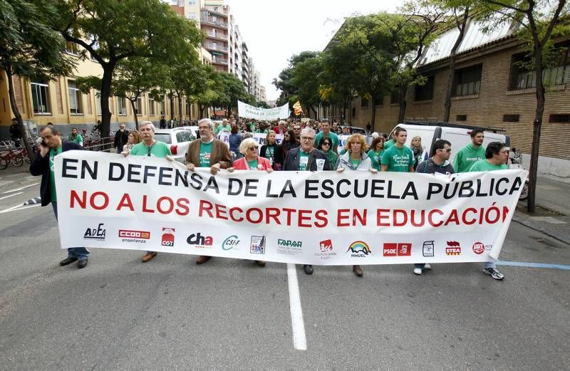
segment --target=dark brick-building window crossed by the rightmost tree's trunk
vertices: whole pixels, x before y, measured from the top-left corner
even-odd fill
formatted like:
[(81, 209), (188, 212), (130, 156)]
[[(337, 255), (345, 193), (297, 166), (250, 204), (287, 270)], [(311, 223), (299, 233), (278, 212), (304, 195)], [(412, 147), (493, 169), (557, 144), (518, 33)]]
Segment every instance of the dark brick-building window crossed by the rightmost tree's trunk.
[[(537, 73), (530, 68), (530, 58), (524, 53), (512, 56), (510, 88), (528, 89), (537, 87)], [(563, 48), (555, 67), (542, 71), (544, 85), (561, 85), (570, 81), (570, 48)]]

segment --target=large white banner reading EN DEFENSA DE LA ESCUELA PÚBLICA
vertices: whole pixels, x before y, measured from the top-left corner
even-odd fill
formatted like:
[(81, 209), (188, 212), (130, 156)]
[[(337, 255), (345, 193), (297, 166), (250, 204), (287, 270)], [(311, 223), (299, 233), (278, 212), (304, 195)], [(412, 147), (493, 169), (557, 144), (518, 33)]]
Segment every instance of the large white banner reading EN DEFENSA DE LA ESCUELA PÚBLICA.
[(56, 157), (62, 248), (321, 265), (497, 259), (527, 172), (188, 172), (154, 157)]

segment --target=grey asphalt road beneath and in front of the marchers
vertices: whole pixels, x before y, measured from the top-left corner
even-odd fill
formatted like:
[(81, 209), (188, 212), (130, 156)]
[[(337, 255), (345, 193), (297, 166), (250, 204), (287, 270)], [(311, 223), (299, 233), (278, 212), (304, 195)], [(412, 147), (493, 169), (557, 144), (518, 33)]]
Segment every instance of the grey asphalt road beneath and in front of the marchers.
[[(570, 270), (297, 266), (296, 350), (285, 264), (93, 249), (62, 268), (51, 207), (6, 211), (39, 180), (0, 174), (1, 370), (570, 369)], [(501, 259), (569, 266), (570, 246), (512, 223)]]

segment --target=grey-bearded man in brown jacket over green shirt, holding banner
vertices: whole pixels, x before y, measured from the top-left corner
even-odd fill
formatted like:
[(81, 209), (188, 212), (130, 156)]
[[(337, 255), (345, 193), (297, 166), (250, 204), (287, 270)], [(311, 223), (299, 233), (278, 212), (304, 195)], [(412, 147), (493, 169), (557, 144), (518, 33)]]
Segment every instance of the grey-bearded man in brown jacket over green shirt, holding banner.
[[(198, 131), (200, 139), (193, 140), (186, 152), (187, 169), (193, 172), (195, 167), (209, 167), (209, 172), (215, 175), (219, 169), (232, 166), (229, 147), (214, 137), (214, 122), (209, 118), (199, 120)], [(199, 256), (196, 263), (206, 263), (210, 258), (212, 256)]]

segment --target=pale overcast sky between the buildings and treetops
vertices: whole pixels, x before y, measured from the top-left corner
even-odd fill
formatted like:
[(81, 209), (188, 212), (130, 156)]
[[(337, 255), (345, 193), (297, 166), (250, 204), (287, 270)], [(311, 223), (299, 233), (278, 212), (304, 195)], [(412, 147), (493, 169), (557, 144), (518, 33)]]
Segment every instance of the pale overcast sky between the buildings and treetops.
[(403, 0), (226, 0), (261, 73), (268, 100), (279, 97), (271, 81), (301, 51), (322, 51), (346, 16), (395, 11)]

